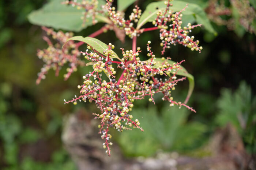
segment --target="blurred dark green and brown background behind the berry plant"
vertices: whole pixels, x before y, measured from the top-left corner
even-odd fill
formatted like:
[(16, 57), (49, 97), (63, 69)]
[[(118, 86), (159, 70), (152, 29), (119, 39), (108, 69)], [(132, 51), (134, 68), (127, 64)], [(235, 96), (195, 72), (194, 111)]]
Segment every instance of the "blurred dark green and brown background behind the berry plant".
[[(152, 0), (139, 1), (138, 5), (143, 11), (150, 2)], [(44, 64), (37, 58), (37, 49), (48, 45), (42, 39), (45, 33), (39, 26), (30, 24), (27, 15), (45, 3), (47, 0), (0, 1), (0, 169), (75, 170), (89, 164), (88, 160), (101, 168), (119, 160), (117, 167), (121, 167), (128, 166), (127, 161), (142, 165), (149, 159), (153, 159), (151, 163), (168, 159), (174, 169), (255, 169), (255, 32), (249, 33), (240, 24), (230, 28), (218, 22), (208, 8), (210, 1), (196, 1), (208, 12), (218, 35), (196, 28), (191, 35), (203, 46), (200, 54), (172, 46), (164, 56), (174, 61), (186, 60), (182, 65), (195, 78), (195, 89), (188, 105), (197, 112), (170, 108), (161, 101), (161, 95), (155, 96), (155, 105), (146, 102), (147, 99), (135, 102), (133, 116), (139, 118), (145, 132), (137, 129), (123, 133), (112, 131), (113, 156), (108, 158), (101, 150), (98, 122), (92, 120), (91, 113), (99, 112), (96, 106), (89, 103), (64, 105), (63, 102), (78, 95), (76, 87), (91, 68), (79, 68), (67, 81), (63, 80), (65, 68), (57, 77), (50, 70), (45, 80), (35, 84)], [(228, 0), (225, 5), (232, 8)], [(255, 5), (255, 1), (252, 0), (251, 5)], [(127, 10), (132, 11), (132, 8)], [(232, 13), (222, 19), (236, 17), (241, 16)], [(253, 18), (255, 31), (255, 16)], [(88, 36), (103, 25), (96, 24), (75, 35)], [(151, 25), (148, 23), (145, 27)], [(148, 40), (155, 55), (161, 57), (158, 37), (159, 32), (152, 31), (138, 38), (137, 44), (145, 60)], [(122, 44), (113, 31), (97, 38), (115, 44), (116, 49), (131, 49), (131, 39), (126, 37)], [(184, 101), (188, 81), (176, 87), (173, 96), (176, 101)], [(72, 123), (82, 125), (76, 128)], [(86, 139), (81, 137), (79, 143), (75, 139), (80, 139), (81, 133), (85, 133), (83, 138)], [(99, 148), (94, 145), (95, 141), (99, 142)], [(220, 161), (218, 158), (222, 157), (229, 159)], [(216, 161), (222, 164), (219, 166)]]

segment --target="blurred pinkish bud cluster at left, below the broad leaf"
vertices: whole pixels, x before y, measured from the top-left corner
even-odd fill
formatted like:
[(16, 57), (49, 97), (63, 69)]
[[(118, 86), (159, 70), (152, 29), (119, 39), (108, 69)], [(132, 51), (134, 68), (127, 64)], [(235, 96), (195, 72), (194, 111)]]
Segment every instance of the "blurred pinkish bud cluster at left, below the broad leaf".
[[(38, 73), (37, 84), (40, 83), (41, 79), (45, 79), (45, 74), (52, 68), (55, 70), (55, 75), (59, 75), (59, 71), (64, 64), (69, 63), (67, 68), (67, 74), (64, 75), (64, 80), (67, 80), (72, 72), (77, 71), (78, 66), (84, 66), (84, 61), (80, 59), (80, 52), (74, 41), (68, 41), (69, 38), (73, 36), (72, 32), (63, 33), (62, 31), (55, 32), (53, 29), (42, 27), (42, 29), (51, 35), (56, 44), (50, 41), (47, 36), (44, 36), (43, 39), (48, 43), (48, 48), (44, 50), (38, 50), (37, 56), (39, 59), (42, 59), (45, 64), (41, 68), (41, 72)], [(62, 48), (63, 44), (65, 46)]]

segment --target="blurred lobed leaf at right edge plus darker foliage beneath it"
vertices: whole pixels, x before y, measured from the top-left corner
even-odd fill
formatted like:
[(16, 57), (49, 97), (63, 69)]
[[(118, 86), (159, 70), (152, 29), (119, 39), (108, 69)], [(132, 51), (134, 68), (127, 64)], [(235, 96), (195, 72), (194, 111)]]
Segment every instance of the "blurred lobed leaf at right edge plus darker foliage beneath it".
[(256, 153), (256, 96), (252, 96), (251, 87), (241, 82), (233, 93), (230, 89), (222, 89), (217, 106), (216, 123), (219, 126), (233, 124), (241, 134), (247, 151)]

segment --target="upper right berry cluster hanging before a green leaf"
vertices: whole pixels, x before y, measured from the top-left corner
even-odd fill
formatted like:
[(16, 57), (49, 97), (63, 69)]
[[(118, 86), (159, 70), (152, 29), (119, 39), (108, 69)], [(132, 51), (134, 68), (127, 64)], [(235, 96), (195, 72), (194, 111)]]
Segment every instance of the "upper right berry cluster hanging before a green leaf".
[(170, 48), (170, 44), (174, 46), (176, 44), (182, 44), (185, 47), (190, 48), (192, 51), (196, 50), (201, 52), (203, 47), (199, 47), (199, 40), (194, 40), (194, 36), (189, 36), (189, 32), (195, 27), (201, 26), (201, 24), (191, 25), (187, 24), (187, 27), (181, 27), (182, 14), (188, 6), (182, 9), (180, 12), (175, 12), (170, 9), (172, 4), (170, 0), (165, 1), (166, 8), (164, 10), (159, 9), (157, 12), (157, 18), (152, 22), (153, 25), (160, 29), (161, 47), (163, 47), (162, 55), (166, 48)]

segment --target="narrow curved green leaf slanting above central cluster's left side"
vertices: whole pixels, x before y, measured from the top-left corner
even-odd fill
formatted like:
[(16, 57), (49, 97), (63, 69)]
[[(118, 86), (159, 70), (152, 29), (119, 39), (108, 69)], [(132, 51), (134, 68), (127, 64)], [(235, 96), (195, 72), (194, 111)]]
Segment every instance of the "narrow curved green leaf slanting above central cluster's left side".
[[(69, 38), (67, 41), (69, 40), (77, 40), (77, 41), (83, 41), (84, 43), (88, 44), (89, 46), (93, 47), (94, 50), (98, 51), (99, 53), (105, 55), (103, 53), (103, 51), (105, 51), (106, 49), (108, 49), (107, 44), (103, 43), (102, 41), (96, 39), (96, 38), (92, 38), (92, 37), (82, 37), (82, 36), (74, 36)], [(65, 44), (63, 45), (65, 46)], [(114, 57), (116, 59), (119, 59), (117, 54), (114, 52)]]

